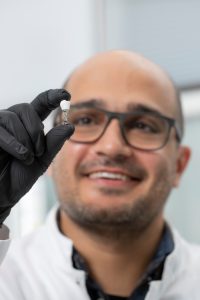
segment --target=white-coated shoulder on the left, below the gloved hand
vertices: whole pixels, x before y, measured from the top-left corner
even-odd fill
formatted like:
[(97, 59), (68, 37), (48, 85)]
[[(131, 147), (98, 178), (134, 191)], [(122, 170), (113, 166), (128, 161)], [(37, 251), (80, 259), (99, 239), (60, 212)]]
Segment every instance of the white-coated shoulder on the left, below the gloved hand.
[[(0, 268), (0, 299), (85, 299), (85, 277), (73, 269), (72, 248), (68, 238), (46, 224), (14, 240)], [(77, 290), (79, 277), (82, 288)]]

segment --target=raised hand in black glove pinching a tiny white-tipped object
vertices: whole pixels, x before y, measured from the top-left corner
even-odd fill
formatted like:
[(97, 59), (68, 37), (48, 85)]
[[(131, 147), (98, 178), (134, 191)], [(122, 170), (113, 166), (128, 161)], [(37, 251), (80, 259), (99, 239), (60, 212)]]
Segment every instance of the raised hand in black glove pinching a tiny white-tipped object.
[(42, 121), (63, 99), (70, 99), (64, 89), (49, 90), (30, 104), (0, 110), (0, 224), (74, 132), (65, 124), (44, 135)]

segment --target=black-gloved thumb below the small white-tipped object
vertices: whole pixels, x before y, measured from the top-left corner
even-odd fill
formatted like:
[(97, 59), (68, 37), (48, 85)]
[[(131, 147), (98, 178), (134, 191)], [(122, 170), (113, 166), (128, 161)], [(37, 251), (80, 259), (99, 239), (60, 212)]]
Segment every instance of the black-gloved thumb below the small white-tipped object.
[(59, 125), (52, 128), (46, 135), (46, 151), (43, 154), (41, 161), (42, 164), (48, 168), (55, 155), (62, 148), (66, 140), (74, 132), (74, 126), (72, 124)]

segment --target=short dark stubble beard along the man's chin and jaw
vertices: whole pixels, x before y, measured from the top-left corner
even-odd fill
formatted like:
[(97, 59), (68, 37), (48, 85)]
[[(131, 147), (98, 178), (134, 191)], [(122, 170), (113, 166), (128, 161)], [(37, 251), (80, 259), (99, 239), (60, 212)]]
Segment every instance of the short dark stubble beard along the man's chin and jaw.
[[(162, 214), (171, 191), (171, 181), (165, 172), (160, 172), (156, 178), (157, 182), (154, 182), (147, 195), (141, 195), (129, 203), (99, 208), (96, 204), (81, 201), (77, 192), (68, 191), (65, 201), (61, 201), (61, 209), (73, 222), (91, 233), (115, 239), (130, 235), (137, 237)], [(113, 194), (123, 197), (119, 191), (116, 194), (116, 191), (108, 188), (99, 190), (107, 197)]]

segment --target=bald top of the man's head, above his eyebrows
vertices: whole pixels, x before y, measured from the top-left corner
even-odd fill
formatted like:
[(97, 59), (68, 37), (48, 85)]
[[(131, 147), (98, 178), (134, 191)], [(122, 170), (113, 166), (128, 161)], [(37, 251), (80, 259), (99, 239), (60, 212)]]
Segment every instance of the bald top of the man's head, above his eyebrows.
[(177, 120), (182, 135), (183, 114), (179, 93), (169, 75), (145, 57), (131, 51), (97, 54), (75, 69), (64, 87), (72, 94), (72, 100), (80, 97), (80, 94), (82, 100), (85, 100), (88, 93), (93, 97), (93, 86), (96, 85), (101, 91), (98, 97), (104, 96), (105, 90), (109, 90), (111, 95), (117, 89), (120, 101), (125, 94), (128, 97), (130, 91), (136, 88), (138, 93), (135, 97), (138, 99), (141, 96), (139, 90), (144, 89), (152, 95), (154, 93), (155, 98), (160, 95), (163, 107), (161, 112), (169, 112), (167, 115)]

